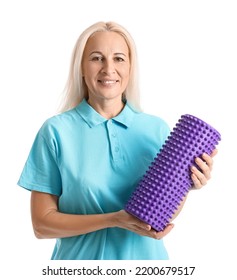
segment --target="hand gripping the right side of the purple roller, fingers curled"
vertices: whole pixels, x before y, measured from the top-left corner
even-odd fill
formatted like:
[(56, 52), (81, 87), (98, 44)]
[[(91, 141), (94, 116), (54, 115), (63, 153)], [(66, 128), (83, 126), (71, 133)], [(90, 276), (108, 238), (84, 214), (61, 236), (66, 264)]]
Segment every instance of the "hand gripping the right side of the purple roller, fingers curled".
[(213, 157), (217, 154), (215, 149), (211, 155), (204, 153), (201, 158), (196, 158), (195, 163), (201, 169), (198, 170), (195, 166), (191, 167), (191, 178), (193, 180), (192, 189), (201, 189), (206, 185), (207, 181), (211, 178), (211, 171), (213, 167)]

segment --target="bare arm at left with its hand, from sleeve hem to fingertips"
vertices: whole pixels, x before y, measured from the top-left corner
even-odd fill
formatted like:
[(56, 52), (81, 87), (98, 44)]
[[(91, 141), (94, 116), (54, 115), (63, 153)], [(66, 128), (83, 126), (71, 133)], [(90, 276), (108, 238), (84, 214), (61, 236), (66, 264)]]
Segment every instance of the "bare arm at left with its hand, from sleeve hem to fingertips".
[(170, 232), (169, 224), (164, 231), (156, 232), (151, 226), (124, 210), (96, 215), (73, 215), (58, 211), (58, 197), (32, 191), (31, 216), (37, 238), (63, 238), (82, 235), (104, 228), (120, 227), (143, 236), (161, 239)]

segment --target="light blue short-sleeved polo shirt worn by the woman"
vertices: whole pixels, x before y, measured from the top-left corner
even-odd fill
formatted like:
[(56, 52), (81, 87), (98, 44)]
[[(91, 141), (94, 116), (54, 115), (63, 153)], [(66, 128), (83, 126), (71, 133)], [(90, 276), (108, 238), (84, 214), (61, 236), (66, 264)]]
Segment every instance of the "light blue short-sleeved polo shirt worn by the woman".
[[(103, 214), (124, 208), (168, 137), (160, 118), (126, 104), (107, 120), (86, 100), (48, 119), (40, 128), (18, 185), (59, 196), (59, 211)], [(160, 260), (163, 240), (120, 228), (59, 238), (52, 259)]]

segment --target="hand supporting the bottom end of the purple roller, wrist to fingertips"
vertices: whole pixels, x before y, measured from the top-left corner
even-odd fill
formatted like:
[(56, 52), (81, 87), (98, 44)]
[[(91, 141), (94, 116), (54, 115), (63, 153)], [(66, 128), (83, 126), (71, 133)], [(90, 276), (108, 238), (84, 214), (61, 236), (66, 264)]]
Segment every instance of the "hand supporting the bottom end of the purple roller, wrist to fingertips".
[(174, 224), (168, 224), (163, 231), (157, 232), (147, 223), (139, 220), (124, 210), (114, 213), (115, 226), (130, 230), (142, 236), (148, 236), (154, 239), (161, 239), (166, 236), (174, 227)]

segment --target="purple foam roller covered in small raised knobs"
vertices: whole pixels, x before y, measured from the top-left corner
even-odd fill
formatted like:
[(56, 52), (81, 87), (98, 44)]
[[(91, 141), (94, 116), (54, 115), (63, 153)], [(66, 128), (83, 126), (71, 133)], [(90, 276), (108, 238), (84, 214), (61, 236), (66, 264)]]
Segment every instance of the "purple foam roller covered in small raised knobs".
[(190, 167), (196, 165), (195, 158), (210, 155), (220, 140), (220, 133), (206, 122), (182, 115), (125, 210), (162, 231), (193, 184)]

